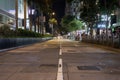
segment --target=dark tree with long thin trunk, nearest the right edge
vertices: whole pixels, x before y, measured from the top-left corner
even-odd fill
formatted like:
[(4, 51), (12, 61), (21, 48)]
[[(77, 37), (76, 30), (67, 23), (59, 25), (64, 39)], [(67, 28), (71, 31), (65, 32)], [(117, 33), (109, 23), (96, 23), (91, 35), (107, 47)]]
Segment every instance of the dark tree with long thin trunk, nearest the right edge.
[(99, 0), (100, 14), (107, 15), (106, 23), (106, 40), (108, 40), (108, 17), (111, 16), (111, 13), (119, 7), (119, 0)]

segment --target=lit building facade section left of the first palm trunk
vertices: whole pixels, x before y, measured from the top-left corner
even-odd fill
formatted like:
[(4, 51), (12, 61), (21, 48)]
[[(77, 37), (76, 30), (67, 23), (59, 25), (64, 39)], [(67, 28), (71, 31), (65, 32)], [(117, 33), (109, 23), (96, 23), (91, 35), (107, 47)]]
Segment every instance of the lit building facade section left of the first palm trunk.
[(13, 22), (15, 19), (15, 0), (1, 0), (0, 1), (0, 24)]

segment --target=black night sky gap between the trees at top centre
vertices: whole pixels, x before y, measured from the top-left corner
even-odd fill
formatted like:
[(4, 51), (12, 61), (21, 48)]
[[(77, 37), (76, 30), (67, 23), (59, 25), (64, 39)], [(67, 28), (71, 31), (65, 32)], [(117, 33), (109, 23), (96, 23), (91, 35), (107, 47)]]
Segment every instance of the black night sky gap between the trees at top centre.
[(65, 14), (65, 0), (56, 0), (53, 3), (53, 10), (56, 13), (58, 21), (60, 21)]

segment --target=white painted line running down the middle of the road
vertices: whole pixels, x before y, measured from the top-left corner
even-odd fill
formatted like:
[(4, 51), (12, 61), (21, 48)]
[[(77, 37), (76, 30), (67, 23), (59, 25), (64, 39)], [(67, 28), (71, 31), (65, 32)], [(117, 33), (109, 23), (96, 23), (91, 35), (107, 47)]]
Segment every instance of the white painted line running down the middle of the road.
[[(59, 56), (62, 56), (61, 42), (60, 42)], [(57, 80), (63, 80), (63, 64), (62, 64), (62, 58), (59, 58), (59, 61), (58, 61)]]

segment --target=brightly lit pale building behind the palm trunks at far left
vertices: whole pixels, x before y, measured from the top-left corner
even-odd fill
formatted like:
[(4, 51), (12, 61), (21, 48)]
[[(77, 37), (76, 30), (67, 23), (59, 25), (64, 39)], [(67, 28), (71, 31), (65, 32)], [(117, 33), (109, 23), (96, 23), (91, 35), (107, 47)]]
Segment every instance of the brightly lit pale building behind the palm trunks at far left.
[[(7, 4), (6, 4), (7, 3)], [(28, 8), (27, 8), (28, 18)], [(22, 20), (24, 19), (24, 0), (18, 0), (18, 26), (23, 27)], [(9, 24), (15, 27), (15, 0), (0, 1), (0, 24)]]

